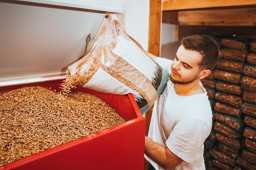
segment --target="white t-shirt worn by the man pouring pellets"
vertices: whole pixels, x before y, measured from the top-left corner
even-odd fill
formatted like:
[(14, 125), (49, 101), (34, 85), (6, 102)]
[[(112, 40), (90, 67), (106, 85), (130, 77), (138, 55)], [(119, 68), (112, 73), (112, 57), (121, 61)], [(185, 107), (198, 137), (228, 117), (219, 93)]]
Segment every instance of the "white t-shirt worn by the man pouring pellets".
[[(171, 60), (157, 57), (157, 63), (171, 73)], [(204, 141), (212, 128), (212, 110), (207, 92), (180, 96), (168, 80), (154, 104), (148, 137), (168, 147), (183, 162), (175, 170), (205, 170)], [(156, 170), (164, 170), (145, 155)]]

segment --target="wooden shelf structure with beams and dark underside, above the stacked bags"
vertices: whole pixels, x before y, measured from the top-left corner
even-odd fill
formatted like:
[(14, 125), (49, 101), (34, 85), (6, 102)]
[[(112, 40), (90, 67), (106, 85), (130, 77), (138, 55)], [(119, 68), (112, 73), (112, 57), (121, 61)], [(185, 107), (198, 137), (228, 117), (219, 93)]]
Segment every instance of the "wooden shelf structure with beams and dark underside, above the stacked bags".
[(175, 24), (175, 40), (198, 33), (256, 40), (256, 0), (166, 0), (162, 23)]

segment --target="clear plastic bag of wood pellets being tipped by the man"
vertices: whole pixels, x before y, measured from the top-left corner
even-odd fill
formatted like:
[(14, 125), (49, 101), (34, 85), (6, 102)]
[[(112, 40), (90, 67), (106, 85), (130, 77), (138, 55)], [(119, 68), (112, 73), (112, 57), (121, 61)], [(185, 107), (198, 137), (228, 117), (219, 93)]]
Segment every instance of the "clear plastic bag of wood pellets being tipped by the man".
[(144, 114), (164, 90), (168, 73), (109, 20), (94, 48), (67, 67), (75, 86), (101, 93), (132, 93)]

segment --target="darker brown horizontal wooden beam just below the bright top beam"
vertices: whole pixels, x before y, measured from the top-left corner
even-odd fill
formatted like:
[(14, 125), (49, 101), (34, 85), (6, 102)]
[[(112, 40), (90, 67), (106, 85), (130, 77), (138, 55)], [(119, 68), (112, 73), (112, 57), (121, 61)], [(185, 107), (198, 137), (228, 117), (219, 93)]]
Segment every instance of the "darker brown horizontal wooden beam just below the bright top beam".
[(256, 26), (256, 8), (179, 11), (180, 25)]

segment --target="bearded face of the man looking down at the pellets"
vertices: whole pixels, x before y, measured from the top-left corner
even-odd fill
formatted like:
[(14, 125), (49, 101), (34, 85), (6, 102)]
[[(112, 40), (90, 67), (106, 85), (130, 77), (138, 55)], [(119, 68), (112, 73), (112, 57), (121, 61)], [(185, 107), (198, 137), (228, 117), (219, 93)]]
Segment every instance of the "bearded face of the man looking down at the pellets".
[(200, 53), (186, 50), (181, 45), (171, 66), (171, 81), (175, 84), (188, 84), (198, 79), (201, 58)]

